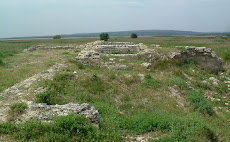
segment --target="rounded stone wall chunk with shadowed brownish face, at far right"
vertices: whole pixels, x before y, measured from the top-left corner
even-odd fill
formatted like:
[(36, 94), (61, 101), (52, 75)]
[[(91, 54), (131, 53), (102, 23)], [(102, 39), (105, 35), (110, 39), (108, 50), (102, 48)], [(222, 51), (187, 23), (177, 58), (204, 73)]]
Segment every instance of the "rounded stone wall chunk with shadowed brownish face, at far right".
[(206, 47), (178, 46), (180, 52), (174, 52), (172, 59), (192, 59), (202, 68), (212, 73), (218, 73), (222, 66), (222, 60), (214, 51)]

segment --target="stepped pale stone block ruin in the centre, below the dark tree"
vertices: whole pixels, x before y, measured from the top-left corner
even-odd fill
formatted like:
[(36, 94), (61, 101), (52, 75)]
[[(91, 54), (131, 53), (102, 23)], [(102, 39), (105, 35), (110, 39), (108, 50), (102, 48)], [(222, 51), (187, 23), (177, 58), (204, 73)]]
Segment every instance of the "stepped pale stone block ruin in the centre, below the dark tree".
[[(88, 43), (78, 54), (76, 60), (83, 65), (107, 67), (108, 69), (125, 69), (126, 65), (105, 63), (101, 56), (107, 57), (135, 57), (148, 52), (147, 46), (143, 43), (133, 42), (104, 42), (96, 41)], [(98, 64), (96, 64), (97, 62)]]

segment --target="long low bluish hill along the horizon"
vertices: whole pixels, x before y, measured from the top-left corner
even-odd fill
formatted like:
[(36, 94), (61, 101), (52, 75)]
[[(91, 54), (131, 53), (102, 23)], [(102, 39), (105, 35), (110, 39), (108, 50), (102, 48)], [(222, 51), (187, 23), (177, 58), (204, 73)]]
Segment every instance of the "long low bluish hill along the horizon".
[[(117, 31), (117, 32), (106, 32), (110, 36), (130, 36), (132, 33), (136, 33), (138, 36), (230, 36), (230, 33), (205, 33), (205, 32), (193, 32), (193, 31), (178, 31), (178, 30), (132, 30), (132, 31)], [(63, 38), (73, 37), (99, 37), (99, 33), (75, 33), (75, 34), (61, 34)], [(4, 39), (34, 39), (34, 38), (53, 38), (52, 36), (31, 36), (31, 37), (12, 37), (2, 38)]]

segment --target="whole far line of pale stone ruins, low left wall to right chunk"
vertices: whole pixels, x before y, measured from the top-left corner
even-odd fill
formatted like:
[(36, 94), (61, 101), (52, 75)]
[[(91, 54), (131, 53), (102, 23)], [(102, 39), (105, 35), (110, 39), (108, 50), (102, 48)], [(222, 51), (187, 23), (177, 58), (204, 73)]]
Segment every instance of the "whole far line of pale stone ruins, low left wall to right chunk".
[[(127, 65), (115, 63), (114, 61), (105, 62), (101, 58), (107, 57), (121, 57), (129, 58), (138, 55), (149, 54), (146, 62), (142, 66), (149, 68), (153, 62), (157, 60), (170, 59), (193, 59), (202, 69), (209, 70), (212, 73), (218, 73), (222, 66), (222, 61), (214, 51), (206, 47), (195, 46), (177, 46), (181, 51), (170, 52), (169, 55), (156, 52), (157, 49), (162, 48), (160, 45), (152, 44), (152, 48), (148, 48), (143, 43), (134, 44), (133, 42), (105, 42), (95, 41), (84, 45), (67, 45), (67, 46), (44, 46), (37, 45), (24, 52), (34, 51), (38, 49), (80, 49), (81, 52), (76, 57), (76, 60), (83, 65), (106, 67), (108, 69), (126, 69)], [(155, 50), (156, 49), (156, 50)]]

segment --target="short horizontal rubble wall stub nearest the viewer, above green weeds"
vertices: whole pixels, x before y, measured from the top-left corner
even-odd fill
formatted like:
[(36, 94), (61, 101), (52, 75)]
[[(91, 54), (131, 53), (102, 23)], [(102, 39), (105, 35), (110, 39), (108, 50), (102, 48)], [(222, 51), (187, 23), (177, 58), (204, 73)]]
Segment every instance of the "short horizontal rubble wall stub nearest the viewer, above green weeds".
[(37, 119), (41, 121), (50, 121), (55, 116), (66, 116), (68, 114), (78, 114), (91, 122), (98, 122), (99, 112), (87, 103), (76, 104), (68, 103), (65, 105), (47, 105), (45, 103), (28, 102), (28, 109), (22, 115), (23, 121)]

